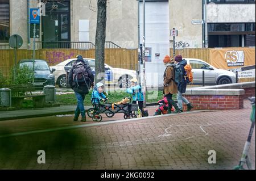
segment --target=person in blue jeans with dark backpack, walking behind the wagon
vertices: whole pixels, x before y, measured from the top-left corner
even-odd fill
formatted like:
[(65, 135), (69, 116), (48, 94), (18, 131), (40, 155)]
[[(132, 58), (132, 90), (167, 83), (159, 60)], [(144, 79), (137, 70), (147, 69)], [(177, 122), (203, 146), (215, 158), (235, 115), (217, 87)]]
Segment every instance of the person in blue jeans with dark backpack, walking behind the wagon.
[(78, 121), (79, 115), (81, 113), (81, 122), (86, 121), (84, 99), (85, 95), (89, 93), (90, 87), (94, 85), (94, 75), (88, 62), (84, 61), (82, 56), (77, 56), (77, 60), (73, 65), (69, 76), (69, 85), (73, 89), (77, 99), (77, 108), (75, 111), (75, 117), (73, 121)]

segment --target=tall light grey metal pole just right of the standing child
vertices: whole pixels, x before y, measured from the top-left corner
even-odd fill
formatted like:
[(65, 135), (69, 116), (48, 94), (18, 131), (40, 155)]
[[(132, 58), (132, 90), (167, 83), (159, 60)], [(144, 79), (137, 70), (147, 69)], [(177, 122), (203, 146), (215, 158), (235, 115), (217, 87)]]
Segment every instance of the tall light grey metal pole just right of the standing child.
[(145, 6), (145, 0), (143, 0), (143, 45), (142, 45), (142, 51), (143, 51), (143, 107), (146, 107), (146, 57), (145, 57), (145, 50), (146, 50), (146, 6)]

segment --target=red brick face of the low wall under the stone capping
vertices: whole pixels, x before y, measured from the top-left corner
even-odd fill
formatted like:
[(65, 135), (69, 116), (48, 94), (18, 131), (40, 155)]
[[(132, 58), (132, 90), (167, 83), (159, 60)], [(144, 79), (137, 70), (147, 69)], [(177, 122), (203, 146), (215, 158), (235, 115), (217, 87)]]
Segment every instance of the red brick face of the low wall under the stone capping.
[[(238, 110), (243, 108), (241, 95), (186, 95), (193, 110)], [(184, 110), (187, 106), (184, 105)]]

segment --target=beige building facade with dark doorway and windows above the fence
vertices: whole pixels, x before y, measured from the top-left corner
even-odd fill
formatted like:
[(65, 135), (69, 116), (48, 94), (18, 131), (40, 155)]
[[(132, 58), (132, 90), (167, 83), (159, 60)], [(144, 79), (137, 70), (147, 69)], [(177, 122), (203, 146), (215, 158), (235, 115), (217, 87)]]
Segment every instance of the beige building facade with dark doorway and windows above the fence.
[[(179, 31), (175, 42), (178, 49), (202, 48), (207, 43), (208, 47), (255, 46), (255, 0), (207, 0), (206, 11), (204, 2), (146, 0), (146, 45), (155, 47), (151, 53), (158, 55), (161, 49), (173, 46), (172, 28)], [(142, 1), (140, 4), (142, 42)], [(42, 48), (74, 48), (72, 44), (59, 43), (71, 41), (94, 44), (97, 0), (0, 0), (0, 44), (19, 34), (23, 38), (22, 48), (32, 47), (33, 26), (28, 23), (28, 10), (38, 5), (45, 6), (45, 16), (36, 27), (36, 41), (44, 42)], [(203, 20), (204, 15), (207, 28), (191, 23)], [(108, 1), (106, 41), (122, 48), (138, 48), (137, 0)]]

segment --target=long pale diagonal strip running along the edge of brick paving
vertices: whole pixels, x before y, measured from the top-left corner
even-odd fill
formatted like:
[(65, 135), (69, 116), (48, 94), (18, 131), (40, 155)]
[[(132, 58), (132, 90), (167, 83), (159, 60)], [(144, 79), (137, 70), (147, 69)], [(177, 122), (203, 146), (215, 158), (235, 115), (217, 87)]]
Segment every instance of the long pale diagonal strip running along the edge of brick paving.
[[(209, 112), (209, 111), (207, 111), (207, 110), (206, 111), (205, 110), (201, 111), (200, 110), (200, 111), (193, 111), (193, 112), (183, 112), (183, 113), (180, 113), (179, 115), (187, 115), (187, 114), (199, 113), (199, 112)], [(105, 122), (100, 122), (100, 123), (75, 125), (75, 126), (71, 126), (71, 127), (60, 127), (60, 128), (50, 128), (50, 129), (42, 129), (42, 130), (20, 132), (20, 133), (11, 133), (11, 134), (2, 135), (2, 136), (0, 136), (0, 138), (14, 137), (14, 136), (24, 136), (24, 135), (28, 135), (28, 134), (38, 134), (38, 133), (55, 132), (55, 131), (66, 131), (66, 130), (69, 130), (69, 129), (94, 127), (94, 126), (101, 126), (101, 125), (115, 124), (115, 123), (129, 123), (131, 121), (140, 121), (140, 120), (148, 120), (148, 119), (151, 119), (151, 118), (172, 117), (172, 116), (177, 116), (177, 114), (148, 116), (148, 117), (134, 118), (134, 119), (129, 119), (129, 120), (105, 121)]]

